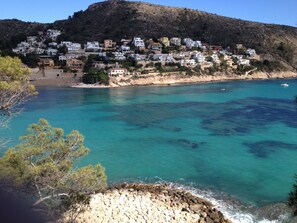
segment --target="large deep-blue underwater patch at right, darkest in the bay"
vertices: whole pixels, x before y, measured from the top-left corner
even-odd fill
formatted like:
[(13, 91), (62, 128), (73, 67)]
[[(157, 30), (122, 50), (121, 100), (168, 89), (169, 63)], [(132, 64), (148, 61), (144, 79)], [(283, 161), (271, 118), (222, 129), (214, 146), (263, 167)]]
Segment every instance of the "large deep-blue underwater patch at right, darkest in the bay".
[(246, 134), (277, 122), (297, 128), (297, 111), (290, 100), (247, 98), (217, 104), (211, 112), (205, 110), (201, 125), (218, 136)]

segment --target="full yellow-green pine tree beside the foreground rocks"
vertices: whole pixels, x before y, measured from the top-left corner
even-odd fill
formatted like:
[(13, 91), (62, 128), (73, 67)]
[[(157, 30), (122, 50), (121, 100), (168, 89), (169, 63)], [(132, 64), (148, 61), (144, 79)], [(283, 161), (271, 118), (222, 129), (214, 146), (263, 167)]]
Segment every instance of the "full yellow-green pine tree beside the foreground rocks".
[(87, 204), (89, 194), (106, 188), (101, 165), (75, 167), (89, 152), (78, 131), (64, 135), (62, 129), (40, 119), (20, 140), (0, 158), (0, 180), (14, 191), (30, 194), (35, 206), (63, 211), (78, 203)]

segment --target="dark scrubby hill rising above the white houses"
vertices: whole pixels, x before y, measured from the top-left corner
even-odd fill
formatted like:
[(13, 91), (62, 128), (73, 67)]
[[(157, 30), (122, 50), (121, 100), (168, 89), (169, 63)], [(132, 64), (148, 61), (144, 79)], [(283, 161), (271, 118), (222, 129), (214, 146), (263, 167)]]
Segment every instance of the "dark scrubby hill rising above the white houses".
[(269, 60), (281, 61), (287, 69), (297, 69), (295, 27), (249, 22), (198, 10), (122, 0), (92, 4), (87, 10), (76, 12), (67, 20), (48, 25), (16, 20), (0, 21), (0, 32), (5, 32), (0, 41), (17, 33), (33, 32), (44, 26), (61, 29), (65, 37), (79, 42), (102, 41), (105, 38), (119, 41), (121, 38), (133, 36), (178, 36), (231, 48), (242, 43), (266, 54)]

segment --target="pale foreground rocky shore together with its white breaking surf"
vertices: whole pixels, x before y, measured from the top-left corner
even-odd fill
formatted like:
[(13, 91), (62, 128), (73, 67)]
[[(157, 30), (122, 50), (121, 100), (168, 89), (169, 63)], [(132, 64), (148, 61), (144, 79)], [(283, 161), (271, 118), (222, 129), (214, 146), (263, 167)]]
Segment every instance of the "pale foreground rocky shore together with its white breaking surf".
[[(76, 222), (293, 223), (297, 219), (285, 203), (256, 208), (228, 200), (168, 183), (122, 183), (92, 194)], [(66, 213), (61, 222), (70, 215)]]

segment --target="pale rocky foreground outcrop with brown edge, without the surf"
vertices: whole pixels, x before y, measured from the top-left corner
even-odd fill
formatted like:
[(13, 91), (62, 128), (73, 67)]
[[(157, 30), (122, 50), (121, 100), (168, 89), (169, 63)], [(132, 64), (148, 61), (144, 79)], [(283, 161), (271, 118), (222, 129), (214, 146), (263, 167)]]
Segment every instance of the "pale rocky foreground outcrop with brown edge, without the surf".
[[(65, 218), (65, 222), (67, 217)], [(208, 201), (167, 185), (123, 184), (92, 195), (77, 222), (230, 223)]]

